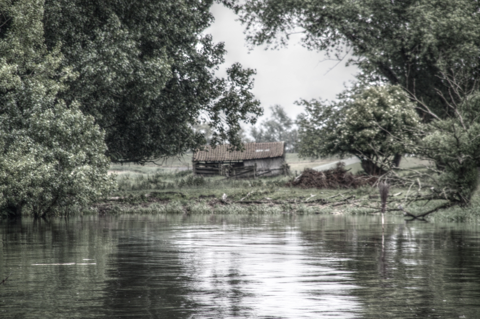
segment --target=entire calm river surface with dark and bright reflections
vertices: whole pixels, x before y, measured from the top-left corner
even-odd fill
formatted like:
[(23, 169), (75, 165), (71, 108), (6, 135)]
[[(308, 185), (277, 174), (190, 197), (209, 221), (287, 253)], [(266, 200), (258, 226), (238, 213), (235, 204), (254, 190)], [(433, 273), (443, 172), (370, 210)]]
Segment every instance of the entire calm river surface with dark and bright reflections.
[(480, 318), (480, 226), (379, 216), (0, 224), (0, 318)]

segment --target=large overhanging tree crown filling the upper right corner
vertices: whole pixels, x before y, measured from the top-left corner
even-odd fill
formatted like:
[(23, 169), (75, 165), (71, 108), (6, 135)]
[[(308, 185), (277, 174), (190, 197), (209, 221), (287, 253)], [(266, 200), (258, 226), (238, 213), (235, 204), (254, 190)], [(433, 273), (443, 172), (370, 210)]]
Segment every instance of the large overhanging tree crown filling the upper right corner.
[[(480, 79), (480, 2), (472, 0), (224, 0), (253, 45), (304, 45), (334, 59), (349, 52), (368, 82), (401, 85), (440, 117), (451, 115), (455, 85)], [(428, 112), (420, 114), (431, 119)]]

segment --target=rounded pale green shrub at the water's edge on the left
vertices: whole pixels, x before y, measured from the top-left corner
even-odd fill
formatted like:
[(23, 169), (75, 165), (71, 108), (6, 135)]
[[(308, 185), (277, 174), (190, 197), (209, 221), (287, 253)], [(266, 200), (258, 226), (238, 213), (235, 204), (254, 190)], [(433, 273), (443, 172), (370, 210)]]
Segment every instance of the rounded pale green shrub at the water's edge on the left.
[(106, 196), (116, 185), (108, 176), (103, 133), (91, 117), (59, 104), (32, 112), (24, 128), (0, 116), (0, 206), (35, 216), (61, 213)]

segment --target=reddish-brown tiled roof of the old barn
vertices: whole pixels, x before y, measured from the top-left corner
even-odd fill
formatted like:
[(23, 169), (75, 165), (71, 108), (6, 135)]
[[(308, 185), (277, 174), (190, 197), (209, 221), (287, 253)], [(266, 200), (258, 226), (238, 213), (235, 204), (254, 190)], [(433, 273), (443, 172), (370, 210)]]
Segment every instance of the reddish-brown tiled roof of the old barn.
[(257, 158), (270, 158), (283, 156), (285, 152), (285, 142), (272, 143), (245, 143), (245, 150), (228, 151), (230, 145), (217, 145), (216, 148), (206, 146), (204, 151), (198, 151), (193, 154), (193, 161), (238, 161)]

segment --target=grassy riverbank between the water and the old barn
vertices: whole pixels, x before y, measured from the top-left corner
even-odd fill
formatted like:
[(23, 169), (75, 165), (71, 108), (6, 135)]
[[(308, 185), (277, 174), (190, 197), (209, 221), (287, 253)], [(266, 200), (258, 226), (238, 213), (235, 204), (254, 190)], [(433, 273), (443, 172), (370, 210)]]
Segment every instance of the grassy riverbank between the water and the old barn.
[[(293, 156), (291, 156), (293, 157)], [(297, 157), (297, 167), (321, 165), (322, 162), (304, 161)], [(173, 161), (172, 161), (173, 162)], [(177, 162), (182, 163), (182, 162)], [(186, 162), (183, 162), (186, 163)], [(320, 163), (320, 164), (319, 164)], [(308, 166), (302, 167), (301, 164)], [(290, 164), (291, 165), (291, 164)], [(354, 164), (355, 165), (355, 164)], [(358, 164), (357, 164), (358, 165)], [(413, 161), (403, 165), (413, 167)], [(370, 186), (359, 189), (300, 189), (285, 184), (293, 178), (264, 177), (257, 179), (225, 179), (223, 177), (194, 177), (185, 166), (115, 165), (119, 190), (103, 202), (96, 203), (84, 213), (180, 213), (180, 214), (240, 214), (240, 213), (378, 213), (378, 189)], [(185, 168), (188, 168), (185, 167)], [(348, 168), (348, 167), (347, 167)], [(300, 169), (298, 169), (300, 171)], [(407, 189), (391, 189), (389, 208), (402, 203)], [(225, 195), (224, 195), (225, 194)], [(414, 203), (406, 206), (410, 213), (425, 212), (439, 202)], [(480, 193), (477, 191), (472, 206), (453, 207), (433, 213), (432, 221), (480, 221)], [(403, 214), (400, 211), (390, 214)]]

